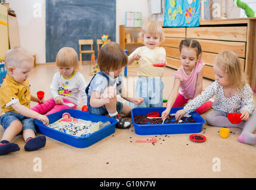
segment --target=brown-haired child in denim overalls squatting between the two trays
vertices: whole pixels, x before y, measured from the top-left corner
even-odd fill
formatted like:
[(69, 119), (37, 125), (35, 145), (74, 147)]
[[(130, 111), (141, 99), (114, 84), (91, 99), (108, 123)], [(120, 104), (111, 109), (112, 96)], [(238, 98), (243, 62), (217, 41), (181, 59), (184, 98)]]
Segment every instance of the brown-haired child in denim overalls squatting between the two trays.
[(125, 100), (135, 105), (143, 102), (138, 97), (126, 97), (124, 85), (122, 84), (121, 72), (127, 65), (127, 54), (124, 49), (116, 42), (106, 43), (100, 49), (98, 55), (98, 72), (92, 78), (86, 92), (88, 94), (88, 112), (97, 115), (109, 114), (110, 117), (118, 121), (116, 128), (127, 129), (131, 125), (119, 116), (122, 113), (125, 116), (131, 114), (132, 107), (117, 101), (117, 95), (120, 94)]

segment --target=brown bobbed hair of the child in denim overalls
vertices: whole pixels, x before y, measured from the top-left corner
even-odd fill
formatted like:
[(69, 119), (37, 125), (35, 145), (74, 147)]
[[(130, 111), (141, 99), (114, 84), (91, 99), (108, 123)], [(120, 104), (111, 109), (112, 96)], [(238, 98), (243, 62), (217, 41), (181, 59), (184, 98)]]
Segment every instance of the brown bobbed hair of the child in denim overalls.
[(116, 42), (106, 43), (100, 49), (98, 54), (98, 67), (100, 71), (109, 74), (109, 71), (115, 71), (127, 65), (128, 57), (121, 45)]

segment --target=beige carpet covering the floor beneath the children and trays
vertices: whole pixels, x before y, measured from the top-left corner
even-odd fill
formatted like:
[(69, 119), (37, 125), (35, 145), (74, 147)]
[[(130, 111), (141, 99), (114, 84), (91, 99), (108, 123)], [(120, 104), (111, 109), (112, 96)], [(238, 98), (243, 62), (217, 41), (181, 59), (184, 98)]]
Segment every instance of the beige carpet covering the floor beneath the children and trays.
[[(85, 64), (82, 71), (87, 83), (92, 77), (88, 68)], [(29, 77), (32, 94), (44, 90), (48, 99), (55, 71), (54, 64), (37, 65)], [(165, 68), (165, 98), (172, 88), (173, 71)], [(128, 75), (136, 76), (135, 72)], [(205, 79), (203, 87), (211, 83)], [(190, 134), (175, 134), (156, 135), (158, 142), (153, 145), (135, 143), (155, 135), (137, 135), (132, 126), (116, 129), (88, 148), (75, 148), (47, 137), (46, 146), (32, 152), (24, 151), (23, 138), (18, 135), (13, 142), (21, 150), (0, 157), (0, 178), (255, 178), (256, 146), (238, 142), (240, 129), (230, 128), (232, 133), (226, 139), (220, 138), (219, 130), (203, 124), (204, 143), (190, 141)], [(3, 132), (1, 127), (0, 137)]]

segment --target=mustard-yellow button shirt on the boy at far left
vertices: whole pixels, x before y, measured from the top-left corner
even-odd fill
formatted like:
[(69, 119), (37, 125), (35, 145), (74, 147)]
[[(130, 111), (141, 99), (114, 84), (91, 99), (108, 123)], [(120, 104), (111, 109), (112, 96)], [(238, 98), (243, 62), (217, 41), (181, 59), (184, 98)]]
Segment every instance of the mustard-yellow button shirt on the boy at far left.
[(23, 83), (18, 83), (13, 77), (7, 74), (0, 87), (0, 106), (2, 109), (0, 115), (7, 112), (16, 112), (11, 105), (17, 102), (30, 108), (29, 87), (29, 80), (26, 80)]

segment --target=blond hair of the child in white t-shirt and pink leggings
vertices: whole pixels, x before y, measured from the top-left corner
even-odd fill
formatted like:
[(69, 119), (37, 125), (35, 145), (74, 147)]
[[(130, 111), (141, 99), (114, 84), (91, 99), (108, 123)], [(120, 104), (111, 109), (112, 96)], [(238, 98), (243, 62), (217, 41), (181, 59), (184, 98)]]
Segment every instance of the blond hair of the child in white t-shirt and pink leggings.
[(78, 62), (78, 53), (72, 47), (62, 47), (56, 55), (56, 65), (58, 67), (72, 67), (75, 71), (81, 71)]

